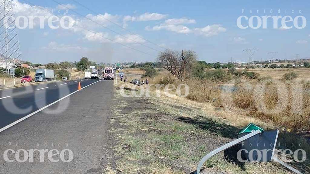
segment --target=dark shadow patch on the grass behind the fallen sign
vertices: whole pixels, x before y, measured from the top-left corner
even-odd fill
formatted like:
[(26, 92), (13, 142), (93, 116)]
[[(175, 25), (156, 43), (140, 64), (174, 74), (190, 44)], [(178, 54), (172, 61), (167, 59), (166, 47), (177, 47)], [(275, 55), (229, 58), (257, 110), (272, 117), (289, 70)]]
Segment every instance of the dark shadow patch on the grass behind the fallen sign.
[(225, 123), (220, 123), (212, 119), (208, 119), (208, 118), (192, 119), (188, 117), (179, 117), (176, 120), (185, 122), (188, 124), (194, 124), (198, 128), (202, 130), (206, 130), (210, 132), (211, 134), (215, 134), (215, 135), (227, 137), (227, 138), (236, 138), (237, 133), (240, 131), (239, 128), (236, 128), (234, 126), (231, 126)]

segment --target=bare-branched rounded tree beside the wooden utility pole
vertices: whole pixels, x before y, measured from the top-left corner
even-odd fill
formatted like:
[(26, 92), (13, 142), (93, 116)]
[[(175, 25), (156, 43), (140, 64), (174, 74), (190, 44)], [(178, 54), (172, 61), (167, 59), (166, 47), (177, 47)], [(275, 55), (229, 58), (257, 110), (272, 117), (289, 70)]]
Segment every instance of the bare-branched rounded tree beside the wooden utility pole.
[[(184, 64), (186, 73), (191, 73), (193, 63), (197, 60), (197, 56), (193, 50), (184, 51)], [(157, 61), (162, 63), (164, 68), (178, 79), (184, 78), (183, 59), (181, 52), (167, 49), (158, 54)]]

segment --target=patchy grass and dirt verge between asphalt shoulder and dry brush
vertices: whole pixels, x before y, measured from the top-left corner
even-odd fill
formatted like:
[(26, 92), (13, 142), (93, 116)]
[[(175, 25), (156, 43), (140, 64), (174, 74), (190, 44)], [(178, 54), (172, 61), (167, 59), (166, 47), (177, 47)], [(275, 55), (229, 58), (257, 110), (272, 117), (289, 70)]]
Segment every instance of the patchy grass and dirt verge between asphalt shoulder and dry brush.
[[(167, 98), (123, 97), (114, 90), (108, 118), (105, 173), (195, 173), (208, 152), (232, 141), (240, 128)], [(276, 163), (237, 166), (216, 155), (202, 173), (290, 173)]]

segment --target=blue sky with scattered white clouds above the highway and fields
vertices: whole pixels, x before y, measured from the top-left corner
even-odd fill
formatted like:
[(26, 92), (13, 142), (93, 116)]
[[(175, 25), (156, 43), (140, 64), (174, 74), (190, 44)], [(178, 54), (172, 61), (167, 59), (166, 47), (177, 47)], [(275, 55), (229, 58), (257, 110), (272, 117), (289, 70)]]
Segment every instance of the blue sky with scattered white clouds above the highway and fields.
[[(231, 57), (234, 61), (247, 61), (243, 52), (246, 48), (257, 48), (256, 60), (271, 59), (268, 52), (278, 52), (273, 55), (278, 59), (294, 59), (296, 54), (301, 58), (310, 58), (309, 44), (310, 31), (308, 25), (303, 29), (273, 28), (272, 19), (267, 20), (267, 29), (241, 29), (237, 26), (237, 18), (241, 15), (247, 17), (264, 15), (289, 15), (293, 19), (302, 15), (310, 19), (308, 9), (309, 1), (101, 1), (76, 0), (91, 10), (100, 13), (105, 18), (121, 25), (127, 30), (138, 34), (132, 35), (122, 28), (104, 20), (72, 0), (57, 2), (64, 4), (68, 10), (65, 14), (63, 6), (46, 0), (14, 0), (14, 8), (20, 9), (16, 15), (33, 15), (31, 9), (47, 8), (48, 15), (72, 16), (79, 20), (79, 25), (97, 33), (73, 26), (71, 29), (19, 29), (20, 47), (23, 59), (34, 63), (49, 63), (60, 61), (78, 61), (81, 57), (88, 57), (96, 62), (123, 62), (123, 61), (154, 61), (158, 51), (164, 48), (173, 50), (191, 49), (197, 52), (199, 60), (207, 62), (228, 62)], [(33, 6), (36, 5), (36, 6)], [(242, 13), (242, 9), (245, 11)], [(280, 13), (278, 14), (278, 10)], [(52, 10), (53, 13), (51, 12)], [(60, 10), (60, 14), (58, 13)], [(250, 10), (252, 13), (250, 14)], [(259, 12), (257, 13), (257, 10)], [(265, 10), (265, 13), (263, 12)], [(273, 10), (273, 13), (270, 13)], [(294, 10), (294, 14), (291, 11)], [(127, 38), (117, 36), (110, 30), (98, 26), (83, 16), (104, 25), (105, 27), (125, 35)], [(286, 11), (286, 13), (285, 13)], [(298, 11), (301, 11), (299, 14)], [(35, 15), (47, 15), (39, 12)], [(298, 20), (301, 25), (301, 20)], [(247, 21), (242, 21), (247, 25)], [(254, 26), (257, 24), (254, 20)], [(288, 24), (292, 24), (288, 23)], [(139, 51), (129, 49), (113, 41), (130, 46)], [(159, 46), (141, 39), (145, 38)], [(130, 38), (130, 39), (128, 39)], [(132, 40), (144, 44), (137, 44)], [(149, 55), (150, 54), (150, 55)]]

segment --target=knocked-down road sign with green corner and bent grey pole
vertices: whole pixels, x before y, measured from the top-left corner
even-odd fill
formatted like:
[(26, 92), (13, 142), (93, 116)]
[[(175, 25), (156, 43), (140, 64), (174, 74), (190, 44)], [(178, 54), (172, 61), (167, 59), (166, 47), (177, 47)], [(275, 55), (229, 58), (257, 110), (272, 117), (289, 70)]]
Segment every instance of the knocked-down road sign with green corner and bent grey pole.
[[(221, 146), (213, 151), (211, 151), (209, 154), (207, 154), (206, 156), (204, 156), (201, 161), (199, 162), (198, 166), (197, 166), (197, 174), (200, 174), (200, 170), (202, 165), (211, 157), (213, 157), (214, 155), (227, 150), (229, 148), (232, 148), (238, 144), (241, 143), (241, 149), (243, 150), (247, 150), (248, 152), (250, 152), (251, 150), (253, 150), (253, 155), (251, 156), (251, 158), (249, 157), (249, 154), (245, 154), (243, 155), (247, 161), (251, 162), (251, 161), (255, 161), (255, 162), (277, 162), (281, 165), (283, 165), (284, 167), (290, 169), (292, 172), (297, 173), (297, 174), (302, 174), (301, 172), (299, 172), (298, 170), (294, 169), (293, 167), (289, 166), (288, 164), (284, 163), (283, 161), (277, 159), (276, 155), (274, 155), (275, 152), (275, 147), (277, 144), (277, 139), (278, 139), (278, 135), (279, 135), (279, 130), (270, 130), (270, 131), (264, 131), (263, 128), (260, 128), (259, 126), (255, 125), (255, 124), (249, 124), (246, 128), (244, 128), (243, 130), (241, 130), (241, 132), (238, 134), (238, 139), (234, 140), (224, 146)], [(265, 147), (266, 144), (271, 144), (272, 146), (269, 146), (270, 150), (267, 149), (267, 147)], [(255, 145), (255, 146), (253, 146)], [(264, 159), (258, 159), (258, 151), (266, 151), (266, 158)], [(241, 151), (243, 152), (243, 151)], [(237, 156), (237, 154), (236, 154)]]

